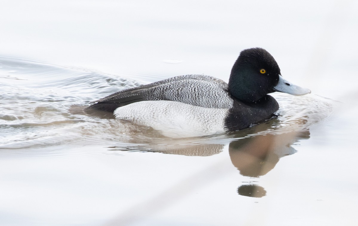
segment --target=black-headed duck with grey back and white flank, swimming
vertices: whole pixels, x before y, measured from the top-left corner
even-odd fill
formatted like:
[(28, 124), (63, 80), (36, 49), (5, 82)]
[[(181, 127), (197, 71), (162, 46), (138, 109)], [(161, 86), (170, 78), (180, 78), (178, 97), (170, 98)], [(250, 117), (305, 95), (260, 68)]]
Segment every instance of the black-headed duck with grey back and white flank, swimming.
[(113, 93), (84, 108), (87, 114), (152, 127), (166, 137), (209, 136), (238, 131), (275, 116), (273, 92), (311, 93), (285, 80), (263, 48), (244, 49), (228, 83), (209, 75), (180, 75)]

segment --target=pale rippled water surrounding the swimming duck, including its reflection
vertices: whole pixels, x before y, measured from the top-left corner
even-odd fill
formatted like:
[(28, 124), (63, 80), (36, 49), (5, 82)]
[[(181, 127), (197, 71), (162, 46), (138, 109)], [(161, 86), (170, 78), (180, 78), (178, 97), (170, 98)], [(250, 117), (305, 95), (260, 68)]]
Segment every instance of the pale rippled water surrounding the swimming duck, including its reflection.
[[(6, 4), (1, 225), (356, 224), (354, 1)], [(168, 138), (68, 112), (175, 75), (227, 81), (254, 46), (312, 90), (272, 94), (281, 117), (266, 123)]]

